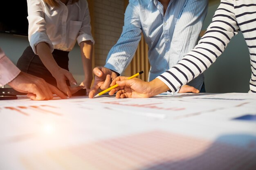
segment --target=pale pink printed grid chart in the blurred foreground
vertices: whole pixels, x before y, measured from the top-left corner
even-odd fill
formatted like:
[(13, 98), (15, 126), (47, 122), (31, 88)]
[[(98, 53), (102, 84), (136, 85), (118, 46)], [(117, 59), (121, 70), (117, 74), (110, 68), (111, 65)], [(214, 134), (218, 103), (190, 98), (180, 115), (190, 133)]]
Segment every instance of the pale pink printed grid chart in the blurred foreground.
[[(164, 131), (50, 150), (22, 157), (29, 170), (255, 170), (256, 147), (246, 148)], [(75, 163), (75, 166), (74, 166)]]

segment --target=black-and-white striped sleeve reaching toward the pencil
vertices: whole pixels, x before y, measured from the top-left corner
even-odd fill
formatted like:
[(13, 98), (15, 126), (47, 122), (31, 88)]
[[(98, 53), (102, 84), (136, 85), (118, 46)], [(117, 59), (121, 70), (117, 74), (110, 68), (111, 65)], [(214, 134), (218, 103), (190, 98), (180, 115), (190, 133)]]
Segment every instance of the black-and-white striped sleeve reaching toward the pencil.
[(231, 38), (238, 34), (233, 0), (221, 0), (204, 36), (182, 60), (157, 78), (172, 92), (204, 72), (222, 54)]

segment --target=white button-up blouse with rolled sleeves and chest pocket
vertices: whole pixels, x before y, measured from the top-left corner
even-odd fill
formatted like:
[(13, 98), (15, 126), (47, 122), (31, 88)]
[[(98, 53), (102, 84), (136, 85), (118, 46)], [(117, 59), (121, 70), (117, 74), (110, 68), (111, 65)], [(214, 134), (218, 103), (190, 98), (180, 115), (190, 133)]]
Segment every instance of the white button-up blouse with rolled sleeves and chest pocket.
[(51, 7), (43, 0), (27, 0), (28, 38), (35, 54), (39, 42), (48, 43), (52, 51), (71, 51), (76, 40), (78, 44), (87, 40), (94, 43), (88, 2), (79, 0), (71, 4), (69, 0), (65, 5), (56, 1), (59, 7)]

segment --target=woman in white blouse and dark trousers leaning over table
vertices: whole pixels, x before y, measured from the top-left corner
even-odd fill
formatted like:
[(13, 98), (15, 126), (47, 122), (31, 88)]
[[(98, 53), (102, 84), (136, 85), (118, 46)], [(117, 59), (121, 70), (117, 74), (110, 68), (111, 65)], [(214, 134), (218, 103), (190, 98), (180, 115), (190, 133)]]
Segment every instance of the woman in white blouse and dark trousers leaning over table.
[(77, 42), (84, 70), (80, 85), (90, 91), (94, 40), (87, 0), (27, 0), (27, 9), (30, 46), (17, 67), (45, 79), (71, 97), (74, 89), (70, 83), (77, 82), (69, 72), (68, 54)]

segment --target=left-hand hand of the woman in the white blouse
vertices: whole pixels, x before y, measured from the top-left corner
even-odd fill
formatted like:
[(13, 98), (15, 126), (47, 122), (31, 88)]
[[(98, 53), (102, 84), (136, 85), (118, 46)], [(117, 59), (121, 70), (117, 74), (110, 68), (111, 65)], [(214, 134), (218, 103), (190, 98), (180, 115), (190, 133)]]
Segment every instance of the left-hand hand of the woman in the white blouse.
[(72, 93), (75, 93), (76, 91), (80, 90), (80, 88), (78, 89), (79, 86), (75, 88), (71, 88), (67, 86), (67, 83), (66, 83), (67, 79), (70, 81), (70, 83), (74, 85), (77, 84), (73, 75), (69, 71), (59, 67), (56, 71), (54, 71), (54, 73), (52, 73), (52, 75), (56, 79), (57, 87), (61, 91), (63, 91), (63, 93), (66, 93), (68, 97), (71, 97)]

